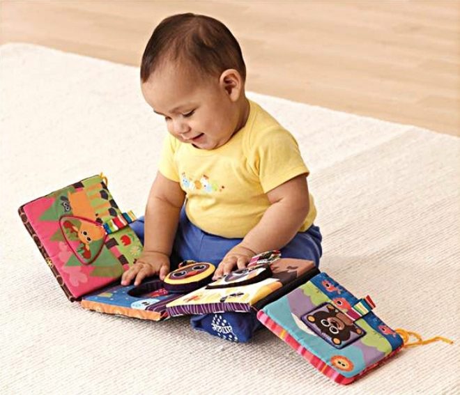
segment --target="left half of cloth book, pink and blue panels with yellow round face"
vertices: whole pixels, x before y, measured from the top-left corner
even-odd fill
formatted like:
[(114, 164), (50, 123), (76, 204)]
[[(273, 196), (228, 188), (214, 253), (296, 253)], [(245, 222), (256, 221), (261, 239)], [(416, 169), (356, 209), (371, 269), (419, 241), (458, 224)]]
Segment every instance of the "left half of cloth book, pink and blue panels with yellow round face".
[(19, 213), (68, 299), (85, 309), (164, 320), (167, 302), (208, 284), (215, 270), (184, 261), (164, 281), (121, 286), (143, 247), (129, 226), (135, 215), (121, 212), (102, 174), (26, 203)]

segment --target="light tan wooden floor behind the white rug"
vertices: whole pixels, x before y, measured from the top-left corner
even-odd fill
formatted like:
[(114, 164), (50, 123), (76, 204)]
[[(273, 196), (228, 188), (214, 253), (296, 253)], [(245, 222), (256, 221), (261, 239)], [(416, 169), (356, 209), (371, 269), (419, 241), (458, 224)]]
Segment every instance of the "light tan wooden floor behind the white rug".
[(174, 13), (221, 20), (247, 90), (460, 136), (460, 1), (1, 1), (0, 43), (139, 65)]

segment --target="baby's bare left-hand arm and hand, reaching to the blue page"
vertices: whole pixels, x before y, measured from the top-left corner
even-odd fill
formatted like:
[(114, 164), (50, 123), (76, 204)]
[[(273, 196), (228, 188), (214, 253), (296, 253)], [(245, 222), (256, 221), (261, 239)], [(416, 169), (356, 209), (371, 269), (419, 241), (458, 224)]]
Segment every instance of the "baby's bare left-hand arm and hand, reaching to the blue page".
[(185, 200), (185, 192), (176, 183), (157, 173), (148, 194), (145, 215), (144, 251), (130, 270), (123, 273), (121, 284), (128, 285), (135, 279), (135, 285), (142, 279), (159, 274), (164, 279), (169, 272), (174, 237), (179, 215)]

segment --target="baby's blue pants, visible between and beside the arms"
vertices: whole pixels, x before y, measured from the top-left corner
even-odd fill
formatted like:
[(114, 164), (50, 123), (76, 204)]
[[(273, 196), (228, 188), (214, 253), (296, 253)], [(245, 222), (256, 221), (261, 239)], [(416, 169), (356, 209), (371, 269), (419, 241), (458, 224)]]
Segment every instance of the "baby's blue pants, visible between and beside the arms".
[[(184, 206), (185, 207), (185, 206)], [(131, 228), (142, 244), (144, 244), (144, 217), (130, 224)], [(171, 270), (178, 267), (181, 261), (192, 259), (197, 262), (208, 262), (217, 266), (227, 252), (240, 243), (242, 238), (222, 238), (201, 231), (185, 215), (185, 208), (181, 210), (181, 217), (174, 240), (171, 254)], [(310, 226), (305, 232), (297, 233), (296, 236), (281, 249), (283, 258), (300, 258), (314, 261), (319, 266), (322, 236), (318, 226)]]

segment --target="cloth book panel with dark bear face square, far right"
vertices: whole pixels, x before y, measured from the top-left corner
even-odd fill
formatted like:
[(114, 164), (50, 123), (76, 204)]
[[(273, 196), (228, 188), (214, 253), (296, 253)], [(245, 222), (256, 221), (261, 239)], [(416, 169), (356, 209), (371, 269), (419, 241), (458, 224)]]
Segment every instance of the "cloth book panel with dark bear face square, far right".
[(356, 298), (322, 272), (267, 304), (257, 318), (321, 373), (349, 384), (403, 346), (374, 307), (371, 297)]

